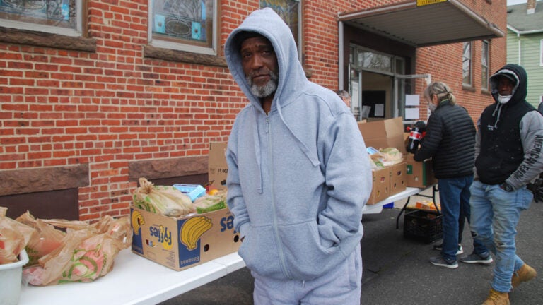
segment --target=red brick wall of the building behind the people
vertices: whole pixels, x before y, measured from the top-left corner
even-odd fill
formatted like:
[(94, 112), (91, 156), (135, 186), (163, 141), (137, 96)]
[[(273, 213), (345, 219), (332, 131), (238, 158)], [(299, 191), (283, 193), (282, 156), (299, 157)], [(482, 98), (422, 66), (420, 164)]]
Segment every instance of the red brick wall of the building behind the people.
[[(224, 66), (146, 58), (148, 1), (88, 2), (96, 52), (0, 43), (0, 171), (88, 164), (80, 218), (97, 220), (129, 213), (129, 162), (207, 155), (210, 141), (228, 140), (245, 98)], [(228, 33), (259, 3), (219, 2), (222, 56)], [(311, 80), (338, 87), (339, 11), (395, 2), (303, 1)], [(506, 28), (505, 0), (465, 2)], [(462, 90), (462, 44), (419, 49), (416, 60), (416, 73), (450, 83), (473, 116), (489, 100), (478, 83), (480, 42), (474, 50), (473, 92)], [(492, 40), (491, 71), (505, 58), (505, 40)]]

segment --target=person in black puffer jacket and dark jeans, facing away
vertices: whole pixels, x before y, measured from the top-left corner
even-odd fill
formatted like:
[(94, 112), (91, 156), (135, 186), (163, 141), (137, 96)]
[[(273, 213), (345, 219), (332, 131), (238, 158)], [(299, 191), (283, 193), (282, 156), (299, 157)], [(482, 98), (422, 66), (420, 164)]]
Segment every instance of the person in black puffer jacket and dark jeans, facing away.
[[(457, 268), (456, 256), (462, 253), (460, 237), (465, 218), (469, 221), (469, 187), (474, 177), (475, 126), (467, 110), (455, 102), (448, 85), (435, 82), (424, 91), (431, 115), (421, 149), (415, 161), (432, 158), (433, 174), (438, 179), (439, 200), (443, 213), (443, 244), (435, 246), (441, 255), (430, 258), (433, 265)], [(488, 249), (474, 241), (474, 253), (491, 263)]]

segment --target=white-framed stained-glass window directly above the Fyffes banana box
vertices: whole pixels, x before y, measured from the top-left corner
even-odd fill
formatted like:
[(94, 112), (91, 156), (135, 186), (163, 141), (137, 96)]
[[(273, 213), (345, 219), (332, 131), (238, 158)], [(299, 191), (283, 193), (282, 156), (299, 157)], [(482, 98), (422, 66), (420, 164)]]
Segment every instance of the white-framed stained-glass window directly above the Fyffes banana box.
[(151, 46), (217, 55), (217, 0), (151, 0), (149, 4)]

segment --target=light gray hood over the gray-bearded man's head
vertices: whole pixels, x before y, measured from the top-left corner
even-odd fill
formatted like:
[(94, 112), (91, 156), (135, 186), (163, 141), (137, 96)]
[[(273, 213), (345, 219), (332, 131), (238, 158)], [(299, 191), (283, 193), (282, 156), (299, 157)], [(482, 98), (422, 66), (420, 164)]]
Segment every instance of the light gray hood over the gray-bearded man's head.
[(279, 107), (284, 107), (293, 99), (281, 97), (296, 95), (298, 90), (303, 88), (304, 83), (309, 81), (298, 60), (298, 49), (291, 29), (271, 8), (263, 8), (247, 16), (243, 23), (228, 35), (224, 44), (224, 55), (230, 73), (250, 102), (258, 109), (262, 109), (259, 99), (251, 93), (241, 64), (240, 46), (243, 38), (247, 37), (246, 32), (257, 32), (266, 37), (274, 47), (279, 66), (279, 83), (274, 101), (271, 103), (271, 109), (277, 107), (276, 101), (278, 100), (282, 103)]

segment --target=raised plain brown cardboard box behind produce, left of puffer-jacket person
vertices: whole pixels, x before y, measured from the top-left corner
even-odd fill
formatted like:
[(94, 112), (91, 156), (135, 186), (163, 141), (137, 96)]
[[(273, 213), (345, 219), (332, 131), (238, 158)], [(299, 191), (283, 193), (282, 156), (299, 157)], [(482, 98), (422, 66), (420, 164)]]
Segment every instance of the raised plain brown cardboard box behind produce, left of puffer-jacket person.
[(404, 124), (402, 117), (371, 121), (368, 123), (358, 122), (358, 129), (362, 133), (366, 147), (397, 148), (406, 154), (404, 145)]

